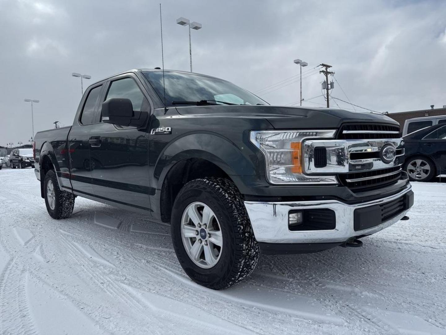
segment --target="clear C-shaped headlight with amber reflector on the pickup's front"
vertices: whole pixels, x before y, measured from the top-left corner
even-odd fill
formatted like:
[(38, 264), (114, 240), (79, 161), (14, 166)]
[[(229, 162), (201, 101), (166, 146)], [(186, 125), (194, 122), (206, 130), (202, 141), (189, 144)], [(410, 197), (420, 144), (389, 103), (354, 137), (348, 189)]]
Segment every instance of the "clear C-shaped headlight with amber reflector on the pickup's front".
[(253, 130), (249, 140), (262, 151), (271, 184), (337, 184), (335, 176), (303, 174), (302, 141), (333, 138), (336, 130)]

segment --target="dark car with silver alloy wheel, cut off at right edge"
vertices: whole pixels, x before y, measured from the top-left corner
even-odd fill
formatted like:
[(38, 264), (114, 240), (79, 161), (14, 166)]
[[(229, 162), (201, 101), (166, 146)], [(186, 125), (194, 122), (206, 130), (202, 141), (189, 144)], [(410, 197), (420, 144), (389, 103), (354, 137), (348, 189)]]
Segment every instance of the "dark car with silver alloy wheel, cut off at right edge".
[(446, 124), (406, 135), (404, 170), (412, 181), (429, 181), (446, 173)]

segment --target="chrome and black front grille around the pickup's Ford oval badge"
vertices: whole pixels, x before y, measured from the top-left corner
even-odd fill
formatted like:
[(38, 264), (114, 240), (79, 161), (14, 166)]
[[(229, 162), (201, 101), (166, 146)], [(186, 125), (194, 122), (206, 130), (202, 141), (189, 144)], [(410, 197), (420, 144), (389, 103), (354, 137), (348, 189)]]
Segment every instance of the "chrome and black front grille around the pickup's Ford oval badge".
[[(384, 156), (388, 147), (396, 150), (391, 161)], [(337, 139), (304, 141), (303, 154), (306, 174), (335, 175), (341, 184), (359, 192), (396, 183), (405, 150), (398, 126), (353, 124), (342, 126)]]

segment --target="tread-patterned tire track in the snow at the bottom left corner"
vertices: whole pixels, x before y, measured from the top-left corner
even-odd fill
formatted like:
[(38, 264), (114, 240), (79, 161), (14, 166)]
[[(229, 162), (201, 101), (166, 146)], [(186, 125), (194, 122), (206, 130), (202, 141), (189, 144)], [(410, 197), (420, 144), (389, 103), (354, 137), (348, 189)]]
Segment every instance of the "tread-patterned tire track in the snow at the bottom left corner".
[(17, 258), (11, 259), (0, 275), (0, 326), (4, 334), (38, 334), (29, 310), (26, 275)]

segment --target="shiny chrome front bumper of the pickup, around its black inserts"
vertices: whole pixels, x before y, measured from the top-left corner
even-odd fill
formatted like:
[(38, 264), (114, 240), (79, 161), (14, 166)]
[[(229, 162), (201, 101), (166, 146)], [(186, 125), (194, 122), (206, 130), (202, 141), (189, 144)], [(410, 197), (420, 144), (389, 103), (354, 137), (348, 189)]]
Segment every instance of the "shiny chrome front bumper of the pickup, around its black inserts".
[[(403, 218), (409, 209), (396, 217), (372, 228), (357, 230), (353, 228), (355, 209), (372, 205), (381, 205), (408, 193), (412, 186), (408, 184), (403, 191), (390, 197), (348, 205), (341, 201), (297, 201), (297, 202), (258, 202), (245, 201), (245, 207), (251, 220), (252, 230), (257, 242), (265, 243), (330, 243), (344, 242), (351, 237), (374, 234), (392, 226)], [(288, 212), (292, 209), (332, 209), (336, 215), (336, 228), (333, 230), (291, 231), (288, 229)]]

